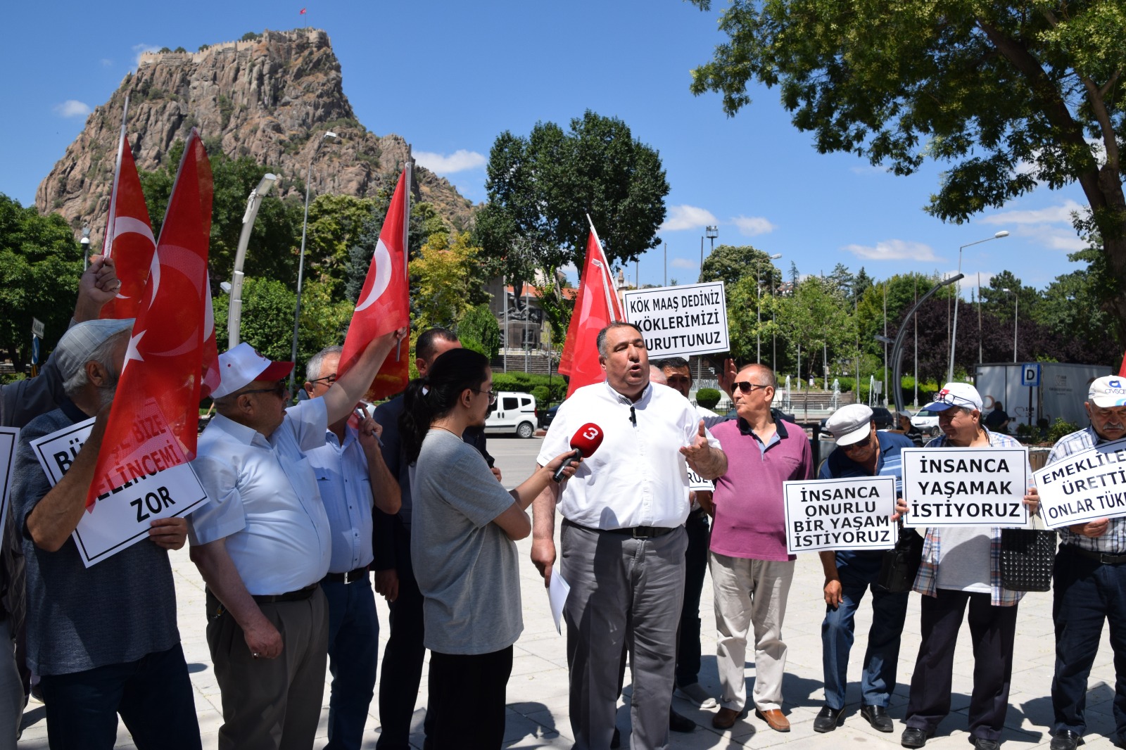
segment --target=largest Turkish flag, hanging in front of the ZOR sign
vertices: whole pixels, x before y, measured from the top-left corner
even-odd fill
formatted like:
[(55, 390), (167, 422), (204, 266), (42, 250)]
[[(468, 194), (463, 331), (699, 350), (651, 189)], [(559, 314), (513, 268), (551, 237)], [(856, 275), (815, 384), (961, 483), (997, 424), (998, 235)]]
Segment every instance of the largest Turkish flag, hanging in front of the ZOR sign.
[(98, 495), (196, 456), (199, 400), (211, 391), (204, 381), (217, 383), (218, 376), (207, 285), (211, 215), (211, 163), (193, 128), (133, 323), (88, 510)]

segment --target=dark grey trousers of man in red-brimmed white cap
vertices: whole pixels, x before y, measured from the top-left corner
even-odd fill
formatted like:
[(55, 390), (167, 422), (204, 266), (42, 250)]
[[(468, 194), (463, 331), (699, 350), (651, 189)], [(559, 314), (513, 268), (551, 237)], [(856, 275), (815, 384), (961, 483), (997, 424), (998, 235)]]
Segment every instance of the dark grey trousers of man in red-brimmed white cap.
[(259, 605), (282, 634), (276, 659), (254, 659), (231, 613), (217, 617), (207, 592), (207, 645), (223, 697), (220, 750), (309, 750), (324, 697), (329, 605), (320, 587), (309, 599)]

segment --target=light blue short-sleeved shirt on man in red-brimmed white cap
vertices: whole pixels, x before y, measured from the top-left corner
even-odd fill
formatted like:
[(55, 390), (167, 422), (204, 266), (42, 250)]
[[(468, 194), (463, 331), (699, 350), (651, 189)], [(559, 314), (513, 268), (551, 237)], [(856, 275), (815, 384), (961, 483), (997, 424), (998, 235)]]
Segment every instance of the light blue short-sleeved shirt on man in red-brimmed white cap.
[(222, 414), (199, 437), (191, 466), (209, 500), (188, 517), (191, 544), (225, 538), (252, 595), (296, 591), (329, 572), (329, 517), (305, 457), (327, 429), (324, 400), (310, 399), (269, 439)]

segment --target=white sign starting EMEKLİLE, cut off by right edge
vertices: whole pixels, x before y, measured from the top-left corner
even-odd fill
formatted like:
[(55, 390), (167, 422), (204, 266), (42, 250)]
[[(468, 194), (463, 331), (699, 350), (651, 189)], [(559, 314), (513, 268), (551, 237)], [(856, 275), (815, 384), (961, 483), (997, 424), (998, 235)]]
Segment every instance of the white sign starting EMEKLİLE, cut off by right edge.
[(1126, 516), (1126, 439), (1061, 458), (1033, 477), (1048, 528)]

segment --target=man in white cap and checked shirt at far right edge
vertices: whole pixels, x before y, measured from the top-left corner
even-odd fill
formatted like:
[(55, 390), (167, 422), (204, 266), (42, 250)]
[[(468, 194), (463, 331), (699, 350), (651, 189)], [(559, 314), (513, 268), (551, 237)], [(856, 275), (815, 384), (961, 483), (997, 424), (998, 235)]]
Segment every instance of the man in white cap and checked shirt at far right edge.
[[(1090, 427), (1052, 447), (1051, 465), (1072, 454), (1126, 438), (1126, 377), (1100, 377), (1088, 392)], [(1115, 654), (1114, 740), (1126, 747), (1126, 518), (1098, 518), (1060, 529), (1054, 599), (1056, 663), (1052, 679), (1052, 750), (1074, 750), (1087, 730), (1087, 678), (1099, 652), (1102, 622)]]

